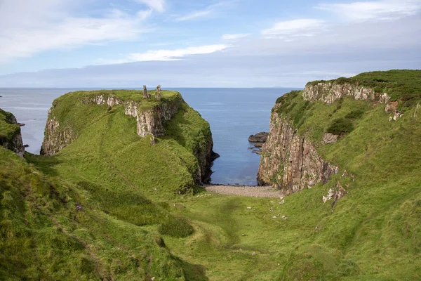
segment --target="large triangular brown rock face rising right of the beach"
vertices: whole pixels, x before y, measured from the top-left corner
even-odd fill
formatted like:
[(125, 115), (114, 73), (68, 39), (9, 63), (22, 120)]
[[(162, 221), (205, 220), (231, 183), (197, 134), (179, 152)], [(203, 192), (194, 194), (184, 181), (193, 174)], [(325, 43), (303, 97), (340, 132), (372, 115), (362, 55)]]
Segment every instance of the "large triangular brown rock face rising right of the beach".
[(269, 137), (263, 145), (258, 171), (259, 185), (273, 185), (287, 194), (326, 183), (338, 166), (325, 162), (312, 141), (286, 119), (272, 111)]

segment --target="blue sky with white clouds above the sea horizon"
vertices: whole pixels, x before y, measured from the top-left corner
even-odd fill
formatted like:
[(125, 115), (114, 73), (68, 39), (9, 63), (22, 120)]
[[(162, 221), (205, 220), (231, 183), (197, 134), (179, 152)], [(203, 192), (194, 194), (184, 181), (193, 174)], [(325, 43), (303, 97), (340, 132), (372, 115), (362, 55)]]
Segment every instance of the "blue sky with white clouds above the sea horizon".
[(0, 0), (0, 87), (303, 87), (421, 68), (421, 0)]

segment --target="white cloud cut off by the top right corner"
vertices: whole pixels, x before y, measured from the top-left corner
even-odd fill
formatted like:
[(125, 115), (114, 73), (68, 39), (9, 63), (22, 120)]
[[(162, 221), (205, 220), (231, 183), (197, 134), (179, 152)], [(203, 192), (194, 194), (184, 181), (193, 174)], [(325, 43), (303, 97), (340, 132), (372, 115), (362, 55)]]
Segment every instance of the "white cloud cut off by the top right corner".
[(421, 1), (359, 1), (348, 4), (320, 4), (316, 8), (335, 13), (340, 18), (357, 22), (366, 20), (396, 20), (408, 15), (415, 15), (421, 10)]

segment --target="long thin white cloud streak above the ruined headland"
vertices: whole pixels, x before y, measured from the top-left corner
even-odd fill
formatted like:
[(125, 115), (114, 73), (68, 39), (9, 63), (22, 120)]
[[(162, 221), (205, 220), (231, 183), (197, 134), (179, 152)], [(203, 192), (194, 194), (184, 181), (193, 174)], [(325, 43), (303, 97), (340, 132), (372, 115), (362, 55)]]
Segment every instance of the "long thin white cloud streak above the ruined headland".
[(176, 50), (156, 50), (147, 51), (146, 53), (131, 53), (121, 60), (100, 60), (100, 64), (119, 64), (119, 63), (134, 63), (146, 61), (169, 61), (180, 60), (188, 55), (204, 55), (208, 53), (215, 53), (228, 48), (227, 45), (215, 44), (206, 46), (196, 46), (188, 48), (179, 48)]

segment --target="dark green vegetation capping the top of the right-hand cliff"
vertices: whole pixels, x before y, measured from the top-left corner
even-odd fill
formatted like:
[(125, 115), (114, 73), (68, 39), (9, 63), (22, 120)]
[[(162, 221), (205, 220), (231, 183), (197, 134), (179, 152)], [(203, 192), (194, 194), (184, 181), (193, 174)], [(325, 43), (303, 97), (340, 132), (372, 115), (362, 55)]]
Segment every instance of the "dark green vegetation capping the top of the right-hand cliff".
[(388, 93), (392, 100), (399, 100), (404, 107), (410, 107), (421, 100), (421, 70), (389, 70), (358, 74), (354, 77), (341, 77), (329, 81), (312, 81), (333, 84), (358, 84), (372, 88), (378, 93)]

